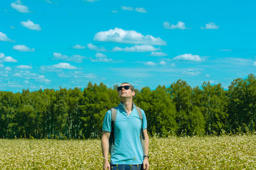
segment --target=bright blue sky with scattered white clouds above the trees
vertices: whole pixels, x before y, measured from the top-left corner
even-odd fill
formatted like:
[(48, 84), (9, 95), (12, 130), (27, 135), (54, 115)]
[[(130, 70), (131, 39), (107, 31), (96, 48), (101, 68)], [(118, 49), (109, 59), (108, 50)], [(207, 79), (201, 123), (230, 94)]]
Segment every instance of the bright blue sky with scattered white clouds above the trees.
[(256, 74), (255, 1), (0, 2), (0, 90), (228, 88)]

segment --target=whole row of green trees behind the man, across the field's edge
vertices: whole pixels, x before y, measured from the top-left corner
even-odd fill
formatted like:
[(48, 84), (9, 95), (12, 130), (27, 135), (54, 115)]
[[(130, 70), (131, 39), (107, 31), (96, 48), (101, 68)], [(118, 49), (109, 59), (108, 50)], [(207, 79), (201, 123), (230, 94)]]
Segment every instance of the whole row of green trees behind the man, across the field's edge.
[[(106, 111), (119, 103), (117, 85), (83, 90), (0, 91), (0, 138), (99, 138)], [(145, 111), (150, 135), (202, 135), (254, 132), (256, 78), (191, 87), (177, 80), (170, 87), (136, 89), (134, 103)]]

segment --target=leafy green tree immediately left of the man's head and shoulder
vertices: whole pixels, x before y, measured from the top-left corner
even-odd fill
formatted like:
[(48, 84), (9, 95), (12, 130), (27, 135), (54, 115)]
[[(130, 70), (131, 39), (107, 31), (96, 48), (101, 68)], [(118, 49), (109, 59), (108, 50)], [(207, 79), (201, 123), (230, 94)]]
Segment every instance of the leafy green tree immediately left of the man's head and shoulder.
[(114, 97), (112, 90), (103, 83), (100, 83), (99, 86), (88, 83), (88, 87), (84, 89), (81, 120), (86, 138), (98, 138), (102, 134), (102, 123), (106, 111), (118, 104), (117, 92), (114, 90), (116, 93), (116, 97)]

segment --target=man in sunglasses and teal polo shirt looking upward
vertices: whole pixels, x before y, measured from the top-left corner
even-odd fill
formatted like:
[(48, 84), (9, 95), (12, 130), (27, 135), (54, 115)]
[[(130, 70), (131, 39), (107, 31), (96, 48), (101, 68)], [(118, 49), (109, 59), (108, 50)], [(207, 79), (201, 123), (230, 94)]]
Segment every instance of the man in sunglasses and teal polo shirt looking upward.
[(141, 118), (132, 102), (132, 97), (135, 96), (134, 87), (129, 83), (122, 83), (117, 90), (120, 104), (116, 107), (115, 144), (111, 147), (110, 164), (108, 152), (111, 134), (111, 110), (107, 111), (102, 125), (103, 169), (148, 169), (148, 134), (145, 113), (141, 110), (142, 129), (145, 136), (145, 139), (142, 140), (140, 139)]

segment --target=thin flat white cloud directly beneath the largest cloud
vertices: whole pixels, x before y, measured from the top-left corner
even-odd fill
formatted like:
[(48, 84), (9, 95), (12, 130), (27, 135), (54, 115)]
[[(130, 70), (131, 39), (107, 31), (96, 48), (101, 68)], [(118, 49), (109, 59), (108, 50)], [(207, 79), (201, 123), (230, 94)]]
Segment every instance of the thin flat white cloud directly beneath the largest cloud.
[(134, 45), (131, 47), (120, 48), (115, 46), (113, 52), (154, 52), (160, 50), (160, 48), (155, 48), (152, 45)]

